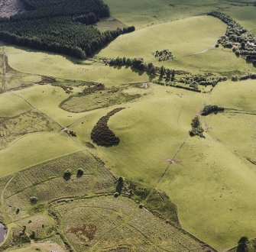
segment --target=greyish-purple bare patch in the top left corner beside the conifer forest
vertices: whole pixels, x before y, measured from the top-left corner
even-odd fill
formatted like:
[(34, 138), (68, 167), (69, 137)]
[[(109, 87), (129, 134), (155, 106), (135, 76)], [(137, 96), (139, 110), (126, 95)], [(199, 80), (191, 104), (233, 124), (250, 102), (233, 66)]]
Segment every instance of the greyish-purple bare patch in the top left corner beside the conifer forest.
[(21, 0), (0, 0), (0, 17), (8, 18), (18, 12), (24, 11), (25, 7)]

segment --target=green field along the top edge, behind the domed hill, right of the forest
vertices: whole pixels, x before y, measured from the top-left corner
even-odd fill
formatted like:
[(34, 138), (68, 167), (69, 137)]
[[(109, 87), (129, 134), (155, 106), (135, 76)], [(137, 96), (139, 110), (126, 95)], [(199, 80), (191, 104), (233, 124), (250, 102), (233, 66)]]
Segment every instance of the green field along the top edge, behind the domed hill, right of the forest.
[(222, 6), (214, 0), (105, 0), (105, 3), (109, 5), (112, 16), (136, 27), (202, 15)]

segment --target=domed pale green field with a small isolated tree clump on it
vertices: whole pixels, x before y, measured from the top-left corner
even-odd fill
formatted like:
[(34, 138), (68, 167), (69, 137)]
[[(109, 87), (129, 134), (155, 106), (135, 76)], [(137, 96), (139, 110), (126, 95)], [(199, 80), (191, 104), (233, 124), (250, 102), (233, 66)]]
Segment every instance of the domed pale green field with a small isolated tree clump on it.
[[(186, 69), (193, 73), (205, 71), (232, 76), (236, 71), (254, 72), (255, 68), (245, 60), (235, 57), (232, 50), (215, 48), (217, 40), (225, 34), (225, 30), (225, 24), (217, 18), (209, 16), (185, 18), (153, 25), (118, 37), (102, 50), (99, 56), (142, 57), (147, 63), (152, 62), (157, 66), (164, 65), (173, 69)], [(152, 53), (164, 49), (169, 49), (173, 53), (174, 60), (158, 62)]]

